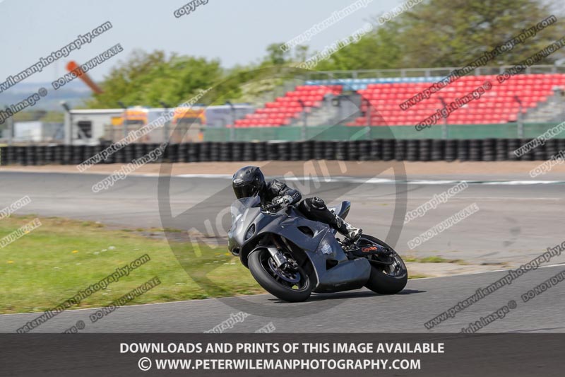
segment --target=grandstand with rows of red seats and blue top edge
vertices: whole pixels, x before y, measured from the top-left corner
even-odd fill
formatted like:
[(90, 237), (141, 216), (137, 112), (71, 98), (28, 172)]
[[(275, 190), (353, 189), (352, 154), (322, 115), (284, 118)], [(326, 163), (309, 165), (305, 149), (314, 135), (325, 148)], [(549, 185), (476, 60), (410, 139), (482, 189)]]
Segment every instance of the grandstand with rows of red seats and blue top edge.
[(237, 120), (235, 127), (295, 125), (303, 112), (321, 110), (323, 100), (336, 95), (347, 95), (359, 104), (357, 116), (344, 120), (344, 125), (413, 126), (444, 108), (444, 103), (468, 95), (485, 81), (490, 81), (492, 88), (481, 98), (451, 112), (446, 118), (447, 124), (516, 122), (520, 112), (521, 120), (530, 117), (536, 122), (553, 121), (562, 116), (559, 90), (565, 90), (565, 74), (519, 74), (504, 83), (496, 81), (496, 75), (463, 76), (420, 103), (406, 110), (400, 108), (400, 103), (441, 79), (443, 76), (309, 80), (295, 91)]

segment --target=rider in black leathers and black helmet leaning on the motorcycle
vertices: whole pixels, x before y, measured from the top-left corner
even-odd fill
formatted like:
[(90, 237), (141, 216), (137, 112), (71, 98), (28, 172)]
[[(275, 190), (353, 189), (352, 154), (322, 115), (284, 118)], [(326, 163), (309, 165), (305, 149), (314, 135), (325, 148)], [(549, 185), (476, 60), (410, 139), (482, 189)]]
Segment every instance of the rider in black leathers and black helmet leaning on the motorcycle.
[[(257, 166), (246, 166), (235, 172), (232, 187), (237, 199), (259, 195), (261, 205), (270, 209), (282, 209), (302, 199), (298, 190), (291, 189), (278, 180), (265, 182), (265, 176)], [(357, 240), (362, 229), (347, 224), (340, 216), (326, 207), (319, 197), (309, 197), (298, 204), (298, 209), (310, 220), (326, 223), (350, 240)]]

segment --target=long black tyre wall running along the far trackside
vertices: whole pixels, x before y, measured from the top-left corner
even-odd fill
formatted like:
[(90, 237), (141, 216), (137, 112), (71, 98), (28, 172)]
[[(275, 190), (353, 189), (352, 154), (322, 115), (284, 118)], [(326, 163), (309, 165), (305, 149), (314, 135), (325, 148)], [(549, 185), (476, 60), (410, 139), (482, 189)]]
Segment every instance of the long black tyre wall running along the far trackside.
[[(548, 160), (565, 151), (565, 139), (549, 139), (522, 156), (520, 146), (532, 139), (373, 139), (354, 141), (204, 141), (169, 144), (165, 162), (203, 161), (532, 161)], [(130, 163), (160, 144), (129, 144), (102, 163)], [(100, 146), (1, 146), (6, 165), (78, 165), (105, 149)]]

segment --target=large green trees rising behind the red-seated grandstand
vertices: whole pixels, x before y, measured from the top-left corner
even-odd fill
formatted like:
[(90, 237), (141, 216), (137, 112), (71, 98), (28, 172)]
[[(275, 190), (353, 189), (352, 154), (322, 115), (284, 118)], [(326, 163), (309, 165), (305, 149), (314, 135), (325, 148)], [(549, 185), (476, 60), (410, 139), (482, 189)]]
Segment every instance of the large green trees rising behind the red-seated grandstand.
[[(335, 52), (316, 70), (464, 66), (523, 29), (557, 16), (557, 23), (487, 65), (516, 64), (565, 35), (562, 13), (562, 6), (539, 0), (427, 0)], [(564, 56), (556, 52), (539, 64)]]

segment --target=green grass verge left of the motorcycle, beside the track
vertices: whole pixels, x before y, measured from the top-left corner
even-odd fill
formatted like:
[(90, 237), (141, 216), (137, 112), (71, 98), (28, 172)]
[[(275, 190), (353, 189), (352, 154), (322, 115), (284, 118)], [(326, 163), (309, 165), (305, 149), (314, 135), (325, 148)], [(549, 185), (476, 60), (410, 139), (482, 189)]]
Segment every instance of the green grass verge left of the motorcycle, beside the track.
[[(0, 238), (34, 218), (2, 219)], [(201, 256), (197, 256), (189, 243), (174, 244), (173, 252), (167, 240), (109, 230), (95, 222), (54, 217), (40, 217), (40, 221), (42, 226), (0, 248), (0, 313), (44, 311), (57, 306), (144, 254), (150, 256), (149, 262), (73, 308), (106, 306), (155, 276), (162, 284), (131, 304), (263, 292), (249, 270), (225, 248), (203, 247)]]

